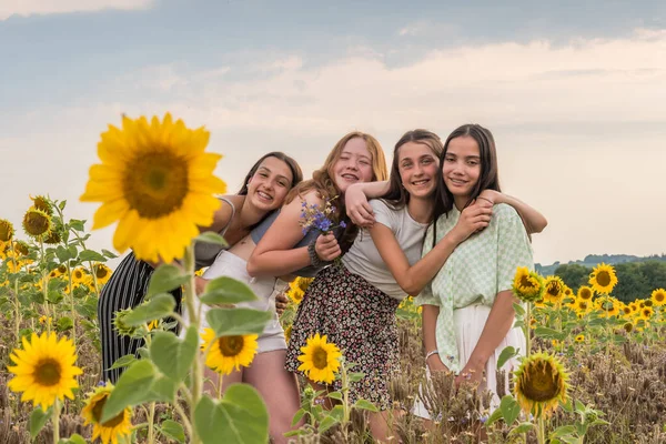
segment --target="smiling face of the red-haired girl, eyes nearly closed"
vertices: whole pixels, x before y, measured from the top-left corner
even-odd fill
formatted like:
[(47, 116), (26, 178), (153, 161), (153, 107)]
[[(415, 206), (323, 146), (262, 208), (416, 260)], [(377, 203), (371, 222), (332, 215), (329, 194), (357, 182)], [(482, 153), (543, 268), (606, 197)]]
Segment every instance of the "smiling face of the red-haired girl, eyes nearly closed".
[(331, 178), (342, 194), (353, 183), (372, 181), (372, 154), (365, 140), (353, 138), (345, 143), (340, 158), (331, 168)]

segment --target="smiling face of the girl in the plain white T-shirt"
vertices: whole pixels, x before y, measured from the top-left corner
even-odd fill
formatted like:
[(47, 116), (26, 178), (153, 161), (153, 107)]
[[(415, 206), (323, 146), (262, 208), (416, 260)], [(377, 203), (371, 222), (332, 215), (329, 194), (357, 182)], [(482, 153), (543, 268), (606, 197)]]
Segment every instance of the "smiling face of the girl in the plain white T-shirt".
[(412, 198), (430, 198), (435, 192), (440, 161), (425, 143), (407, 142), (400, 147), (397, 169), (402, 185)]

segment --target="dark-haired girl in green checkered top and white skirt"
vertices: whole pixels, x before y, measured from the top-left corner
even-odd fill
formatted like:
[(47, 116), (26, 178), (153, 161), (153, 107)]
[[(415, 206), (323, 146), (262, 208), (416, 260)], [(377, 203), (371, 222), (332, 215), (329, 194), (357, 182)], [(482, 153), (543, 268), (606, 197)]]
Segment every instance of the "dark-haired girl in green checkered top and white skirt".
[[(423, 255), (455, 228), (484, 190), (500, 191), (495, 142), (485, 128), (466, 124), (456, 129), (440, 160), (434, 223), (426, 232)], [(480, 390), (494, 394), (494, 405), (500, 401), (500, 353), (507, 345), (525, 347), (523, 332), (513, 327), (513, 304), (518, 301), (511, 286), (518, 266), (534, 266), (527, 232), (512, 206), (497, 204), (487, 228), (457, 245), (416, 297), (423, 305), (428, 370), (452, 371), (458, 383), (480, 383)], [(515, 360), (505, 364), (506, 375), (514, 365)], [(428, 416), (423, 404), (417, 403), (415, 410), (420, 416)]]

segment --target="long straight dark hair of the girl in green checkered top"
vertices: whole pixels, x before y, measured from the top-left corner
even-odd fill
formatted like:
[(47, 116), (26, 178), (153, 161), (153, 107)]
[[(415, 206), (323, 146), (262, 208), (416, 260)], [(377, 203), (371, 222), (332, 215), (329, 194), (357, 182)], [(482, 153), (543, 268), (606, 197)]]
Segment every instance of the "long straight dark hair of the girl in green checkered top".
[(437, 219), (442, 214), (448, 214), (455, 204), (453, 194), (444, 183), (444, 173), (442, 171), (446, 152), (448, 151), (448, 143), (455, 138), (464, 137), (472, 138), (476, 141), (481, 161), (481, 174), (478, 175), (478, 181), (470, 194), (470, 200), (465, 203), (465, 208), (467, 208), (476, 198), (478, 198), (478, 194), (481, 194), (483, 190), (502, 191), (500, 189), (497, 151), (495, 149), (495, 138), (493, 138), (493, 133), (482, 125), (475, 123), (468, 123), (456, 128), (446, 139), (446, 142), (444, 143), (444, 150), (440, 155), (440, 171), (437, 172), (437, 189), (435, 192), (435, 208), (433, 212), (433, 246), (435, 245), (437, 239)]

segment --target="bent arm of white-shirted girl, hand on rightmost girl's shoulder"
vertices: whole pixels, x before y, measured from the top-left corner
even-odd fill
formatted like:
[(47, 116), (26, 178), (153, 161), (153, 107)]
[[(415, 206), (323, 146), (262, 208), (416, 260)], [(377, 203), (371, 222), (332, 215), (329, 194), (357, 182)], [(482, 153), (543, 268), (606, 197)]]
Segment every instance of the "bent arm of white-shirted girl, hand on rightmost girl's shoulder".
[(370, 235), (389, 268), (395, 282), (405, 293), (417, 295), (433, 280), (455, 248), (476, 231), (486, 228), (491, 221), (492, 208), (473, 204), (461, 213), (458, 222), (437, 244), (414, 265), (395, 239), (393, 231), (383, 223), (375, 223)]

